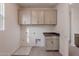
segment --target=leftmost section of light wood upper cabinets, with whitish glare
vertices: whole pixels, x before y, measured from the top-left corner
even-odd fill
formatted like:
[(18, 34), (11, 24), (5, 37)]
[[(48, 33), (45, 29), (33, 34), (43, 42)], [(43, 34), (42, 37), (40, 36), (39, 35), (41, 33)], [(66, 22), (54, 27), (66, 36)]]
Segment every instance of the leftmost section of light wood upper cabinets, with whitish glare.
[(20, 24), (31, 24), (31, 11), (20, 11), (19, 20)]

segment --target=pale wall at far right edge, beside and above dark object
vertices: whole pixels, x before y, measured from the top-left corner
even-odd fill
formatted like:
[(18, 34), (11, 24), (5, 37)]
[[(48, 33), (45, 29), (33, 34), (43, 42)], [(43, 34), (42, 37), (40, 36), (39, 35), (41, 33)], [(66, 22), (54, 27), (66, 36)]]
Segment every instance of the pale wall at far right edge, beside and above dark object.
[(74, 34), (79, 34), (79, 7), (71, 8), (71, 45), (75, 46)]

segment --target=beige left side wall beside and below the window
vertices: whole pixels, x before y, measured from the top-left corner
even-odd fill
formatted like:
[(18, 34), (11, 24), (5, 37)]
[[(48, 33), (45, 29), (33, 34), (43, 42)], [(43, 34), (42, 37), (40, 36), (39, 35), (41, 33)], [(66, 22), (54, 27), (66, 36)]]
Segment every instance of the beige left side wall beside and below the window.
[(0, 32), (0, 55), (10, 55), (19, 47), (17, 10), (15, 4), (5, 4), (5, 30)]

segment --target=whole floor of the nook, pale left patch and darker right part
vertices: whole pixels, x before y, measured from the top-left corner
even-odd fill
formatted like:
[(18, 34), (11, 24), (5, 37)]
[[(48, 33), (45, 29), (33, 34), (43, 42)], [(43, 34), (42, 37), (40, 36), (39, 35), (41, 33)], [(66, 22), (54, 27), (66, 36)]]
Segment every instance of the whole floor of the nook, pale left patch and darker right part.
[(12, 56), (61, 56), (58, 51), (48, 52), (43, 47), (20, 47)]

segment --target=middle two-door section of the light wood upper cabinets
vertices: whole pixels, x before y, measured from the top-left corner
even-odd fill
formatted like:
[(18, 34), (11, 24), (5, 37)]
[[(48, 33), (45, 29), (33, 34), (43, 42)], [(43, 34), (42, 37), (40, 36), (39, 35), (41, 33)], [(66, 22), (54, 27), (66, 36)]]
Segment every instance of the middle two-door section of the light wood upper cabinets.
[(43, 10), (32, 10), (32, 24), (44, 24)]

